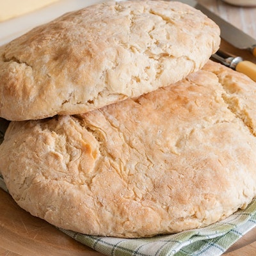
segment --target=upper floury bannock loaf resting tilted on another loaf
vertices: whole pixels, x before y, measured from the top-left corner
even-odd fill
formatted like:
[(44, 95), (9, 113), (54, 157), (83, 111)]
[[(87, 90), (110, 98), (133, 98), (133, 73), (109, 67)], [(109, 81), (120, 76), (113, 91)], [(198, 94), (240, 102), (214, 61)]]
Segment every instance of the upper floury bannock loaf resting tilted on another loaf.
[(0, 47), (0, 116), (86, 113), (168, 86), (220, 45), (203, 13), (173, 1), (95, 4)]

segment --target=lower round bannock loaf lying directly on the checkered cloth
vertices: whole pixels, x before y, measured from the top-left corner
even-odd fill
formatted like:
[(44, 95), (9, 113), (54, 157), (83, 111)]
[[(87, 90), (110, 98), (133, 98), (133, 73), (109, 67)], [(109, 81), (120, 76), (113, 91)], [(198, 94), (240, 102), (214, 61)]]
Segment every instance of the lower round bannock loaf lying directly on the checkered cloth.
[(76, 116), (11, 122), (0, 170), (31, 214), (84, 234), (203, 227), (256, 195), (256, 84), (209, 61), (165, 88)]

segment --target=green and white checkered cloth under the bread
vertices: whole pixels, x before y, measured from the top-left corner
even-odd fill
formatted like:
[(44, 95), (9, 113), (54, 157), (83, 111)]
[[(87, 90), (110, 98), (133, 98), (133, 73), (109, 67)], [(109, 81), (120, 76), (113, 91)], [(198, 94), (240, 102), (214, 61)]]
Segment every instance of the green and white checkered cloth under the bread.
[[(0, 175), (0, 188), (8, 192)], [(141, 239), (87, 236), (63, 230), (62, 232), (94, 250), (111, 256), (218, 256), (256, 225), (256, 200), (223, 221), (205, 228), (172, 235)]]

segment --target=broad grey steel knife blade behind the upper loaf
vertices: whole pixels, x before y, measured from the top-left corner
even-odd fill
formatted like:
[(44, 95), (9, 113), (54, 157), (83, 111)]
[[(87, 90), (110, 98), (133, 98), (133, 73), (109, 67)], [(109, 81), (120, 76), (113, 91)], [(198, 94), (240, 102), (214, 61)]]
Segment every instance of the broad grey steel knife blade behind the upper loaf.
[[(175, 0), (169, 0), (175, 1)], [(256, 39), (252, 38), (252, 36), (247, 35), (240, 29), (236, 28), (226, 20), (222, 19), (220, 16), (211, 12), (202, 4), (197, 3), (195, 0), (179, 0), (184, 4), (188, 4), (195, 9), (200, 10), (207, 17), (213, 20), (221, 29), (221, 38), (227, 41), (229, 44), (233, 45), (238, 49), (246, 49), (252, 52), (253, 56), (256, 56)]]

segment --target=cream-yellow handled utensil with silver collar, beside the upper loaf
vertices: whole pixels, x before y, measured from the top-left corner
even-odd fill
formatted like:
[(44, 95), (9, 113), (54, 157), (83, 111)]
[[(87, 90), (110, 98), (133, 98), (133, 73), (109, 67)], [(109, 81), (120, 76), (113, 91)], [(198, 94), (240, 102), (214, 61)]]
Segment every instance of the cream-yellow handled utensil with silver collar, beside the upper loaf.
[(230, 56), (225, 52), (218, 51), (212, 55), (212, 59), (219, 61), (223, 65), (238, 72), (246, 74), (256, 82), (256, 64), (248, 60), (243, 60), (240, 56)]

